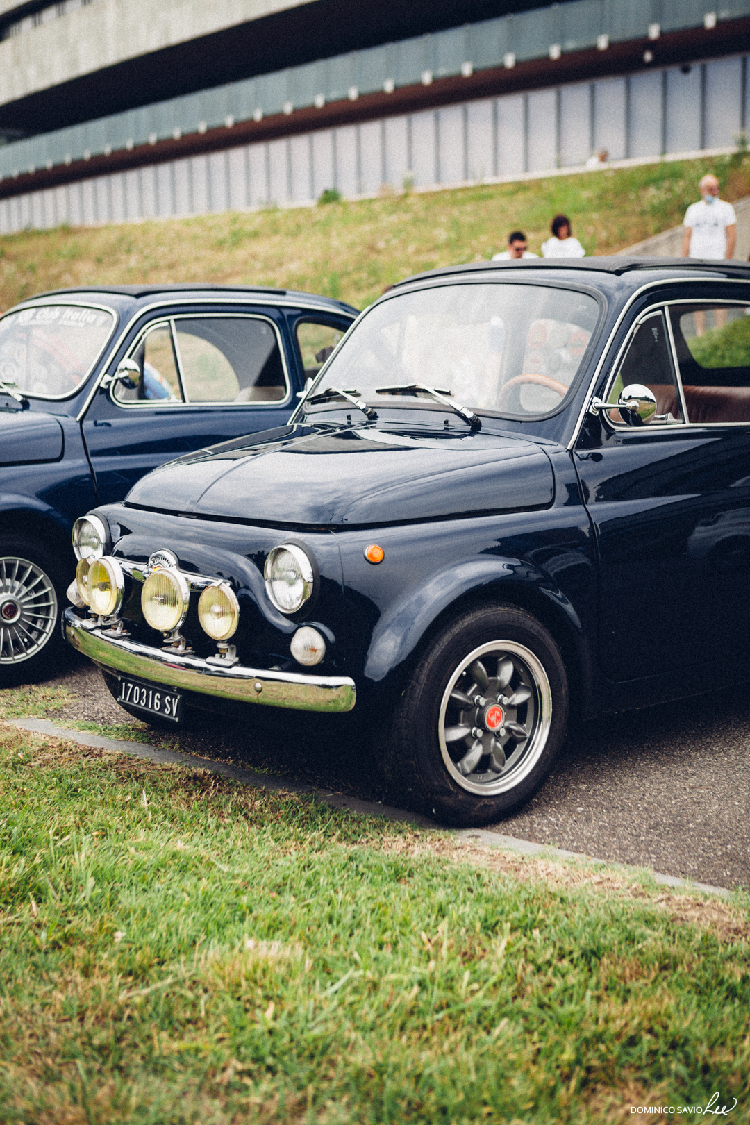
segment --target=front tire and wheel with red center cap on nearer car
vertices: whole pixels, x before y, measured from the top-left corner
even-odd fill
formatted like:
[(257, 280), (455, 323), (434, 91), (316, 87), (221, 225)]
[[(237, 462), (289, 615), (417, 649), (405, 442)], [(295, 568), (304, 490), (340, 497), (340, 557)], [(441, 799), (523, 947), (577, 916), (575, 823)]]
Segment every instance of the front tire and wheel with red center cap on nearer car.
[(475, 609), (427, 645), (381, 756), (413, 808), (453, 825), (482, 825), (539, 789), (567, 722), (568, 677), (548, 630), (512, 605)]

